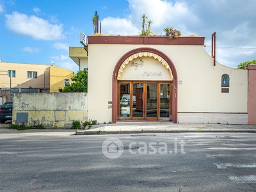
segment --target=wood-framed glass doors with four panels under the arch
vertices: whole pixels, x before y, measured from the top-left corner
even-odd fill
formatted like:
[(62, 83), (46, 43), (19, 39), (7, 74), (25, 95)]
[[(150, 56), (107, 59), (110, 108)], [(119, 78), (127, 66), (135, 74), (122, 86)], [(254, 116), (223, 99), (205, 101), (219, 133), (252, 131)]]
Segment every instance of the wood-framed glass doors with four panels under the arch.
[(120, 120), (171, 120), (172, 82), (119, 82)]

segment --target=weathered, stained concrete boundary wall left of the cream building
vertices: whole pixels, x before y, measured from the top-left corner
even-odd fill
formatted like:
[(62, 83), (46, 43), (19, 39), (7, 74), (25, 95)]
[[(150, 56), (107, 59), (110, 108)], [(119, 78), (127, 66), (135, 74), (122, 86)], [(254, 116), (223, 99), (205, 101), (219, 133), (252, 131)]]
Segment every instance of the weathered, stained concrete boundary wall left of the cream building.
[(13, 124), (71, 128), (88, 120), (87, 93), (14, 93)]

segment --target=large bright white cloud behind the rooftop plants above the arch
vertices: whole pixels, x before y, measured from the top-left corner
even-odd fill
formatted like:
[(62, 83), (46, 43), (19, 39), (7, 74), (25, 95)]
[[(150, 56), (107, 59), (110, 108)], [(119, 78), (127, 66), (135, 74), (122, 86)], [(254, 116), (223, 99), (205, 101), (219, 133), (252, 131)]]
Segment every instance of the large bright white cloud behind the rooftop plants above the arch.
[[(196, 25), (199, 19), (192, 14), (188, 4), (184, 2), (172, 3), (161, 0), (127, 0), (131, 12), (125, 18), (108, 17), (102, 20), (102, 33), (107, 35), (139, 35), (141, 31), (140, 19), (146, 13), (148, 20), (152, 20), (152, 32), (161, 35), (163, 28), (173, 26), (184, 35), (191, 35), (188, 26)], [(141, 6), (143, 4), (143, 6)], [(188, 25), (189, 24), (189, 25)]]

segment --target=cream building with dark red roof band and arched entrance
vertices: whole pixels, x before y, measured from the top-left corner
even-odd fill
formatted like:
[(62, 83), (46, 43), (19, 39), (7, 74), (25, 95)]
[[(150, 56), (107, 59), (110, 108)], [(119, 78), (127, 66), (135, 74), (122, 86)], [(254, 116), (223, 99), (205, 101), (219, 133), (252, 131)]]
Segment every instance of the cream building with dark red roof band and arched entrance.
[(248, 112), (248, 70), (214, 62), (204, 37), (88, 36), (85, 48), (70, 47), (70, 58), (88, 69), (88, 119), (256, 121), (256, 106)]

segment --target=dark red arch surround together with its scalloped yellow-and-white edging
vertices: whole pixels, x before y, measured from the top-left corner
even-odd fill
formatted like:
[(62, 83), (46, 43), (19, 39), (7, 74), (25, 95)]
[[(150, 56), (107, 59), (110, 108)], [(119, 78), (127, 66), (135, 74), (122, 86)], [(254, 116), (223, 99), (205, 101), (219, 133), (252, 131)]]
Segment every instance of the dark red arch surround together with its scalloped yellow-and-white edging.
[[(137, 48), (137, 49), (132, 49), (131, 51), (125, 53), (116, 63), (116, 66), (113, 70), (113, 77), (112, 77), (112, 122), (113, 123), (116, 123), (117, 121), (117, 116), (118, 116), (118, 104), (117, 104), (117, 101), (118, 101), (118, 78), (119, 76), (118, 75), (121, 75), (122, 72), (120, 71), (121, 70), (124, 70), (124, 67), (122, 65), (125, 65), (127, 64), (127, 62), (129, 63), (129, 61), (133, 60), (134, 59), (134, 55), (135, 56), (145, 56), (145, 55), (142, 55), (142, 54), (145, 54), (147, 52), (147, 56), (149, 54), (149, 56), (152, 54), (154, 54), (154, 58), (160, 60), (160, 62), (162, 62), (163, 65), (166, 66), (166, 68), (168, 68), (168, 70), (170, 70), (170, 72), (172, 72), (172, 77), (173, 77), (173, 90), (172, 90), (172, 122), (173, 123), (177, 123), (177, 106), (178, 106), (178, 102), (177, 102), (177, 89), (178, 89), (178, 86), (177, 86), (177, 82), (178, 82), (178, 77), (177, 77), (177, 71), (176, 71), (176, 68), (175, 68), (175, 65), (173, 64), (172, 60), (170, 60), (170, 58), (168, 56), (166, 56), (166, 54), (164, 54), (163, 52), (157, 50), (157, 49), (154, 49), (154, 48), (150, 48), (150, 47), (140, 47), (140, 48)], [(152, 57), (151, 56), (151, 57)], [(170, 68), (170, 69), (169, 69)], [(120, 72), (120, 73), (119, 73)], [(120, 76), (121, 77), (121, 76)]]

